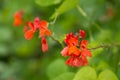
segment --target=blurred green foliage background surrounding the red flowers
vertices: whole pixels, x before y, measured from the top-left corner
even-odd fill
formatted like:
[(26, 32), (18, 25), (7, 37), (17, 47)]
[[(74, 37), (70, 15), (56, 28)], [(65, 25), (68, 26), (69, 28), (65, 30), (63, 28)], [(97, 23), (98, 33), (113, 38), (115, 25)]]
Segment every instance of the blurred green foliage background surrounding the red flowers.
[[(25, 21), (38, 16), (51, 22), (57, 12), (49, 29), (62, 44), (67, 33), (84, 29), (89, 48), (111, 46), (92, 50), (87, 67), (69, 67), (61, 45), (48, 37), (49, 50), (43, 53), (38, 33), (28, 41), (25, 25), (13, 26), (19, 10)], [(119, 80), (120, 46), (114, 45), (120, 43), (119, 14), (120, 0), (0, 0), (0, 80)]]

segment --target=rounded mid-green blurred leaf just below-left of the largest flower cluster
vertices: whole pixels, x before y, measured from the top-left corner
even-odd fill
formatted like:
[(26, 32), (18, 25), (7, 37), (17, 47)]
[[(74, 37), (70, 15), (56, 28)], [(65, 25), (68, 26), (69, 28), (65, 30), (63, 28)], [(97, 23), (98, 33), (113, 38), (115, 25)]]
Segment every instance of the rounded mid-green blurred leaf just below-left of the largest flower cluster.
[(62, 59), (57, 59), (48, 66), (47, 75), (50, 79), (53, 79), (56, 76), (67, 72), (68, 67), (65, 65), (64, 62), (65, 61)]

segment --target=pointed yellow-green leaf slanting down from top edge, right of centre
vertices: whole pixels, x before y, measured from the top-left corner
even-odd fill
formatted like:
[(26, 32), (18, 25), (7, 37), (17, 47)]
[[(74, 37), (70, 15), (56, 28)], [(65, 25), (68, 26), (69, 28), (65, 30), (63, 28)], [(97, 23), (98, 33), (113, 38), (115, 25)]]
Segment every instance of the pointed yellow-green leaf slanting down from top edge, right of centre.
[[(79, 3), (79, 0), (65, 0), (60, 7), (57, 9), (58, 15), (73, 9), (77, 4)], [(53, 15), (50, 17), (50, 19), (53, 19), (56, 16), (56, 12), (53, 13)]]

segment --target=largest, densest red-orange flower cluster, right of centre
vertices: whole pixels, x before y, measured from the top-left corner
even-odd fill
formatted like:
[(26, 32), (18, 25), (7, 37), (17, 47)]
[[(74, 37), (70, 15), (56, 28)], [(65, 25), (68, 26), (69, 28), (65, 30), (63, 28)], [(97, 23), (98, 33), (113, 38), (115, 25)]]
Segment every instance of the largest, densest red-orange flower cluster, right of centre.
[[(88, 41), (83, 40), (85, 34), (84, 30), (80, 30), (79, 35), (75, 35), (73, 33), (66, 35), (64, 42), (67, 46), (61, 51), (61, 54), (62, 56), (70, 57), (66, 61), (67, 65), (79, 67), (88, 64), (87, 56), (91, 57), (92, 54), (87, 49)], [(82, 38), (81, 41), (79, 41), (79, 36)]]

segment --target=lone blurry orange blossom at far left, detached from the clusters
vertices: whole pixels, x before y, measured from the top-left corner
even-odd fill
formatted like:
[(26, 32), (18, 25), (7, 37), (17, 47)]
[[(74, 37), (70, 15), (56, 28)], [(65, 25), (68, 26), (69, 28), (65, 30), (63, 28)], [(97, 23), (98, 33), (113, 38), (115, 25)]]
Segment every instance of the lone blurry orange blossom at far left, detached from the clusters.
[(23, 11), (18, 11), (14, 14), (14, 26), (20, 26), (22, 22)]

